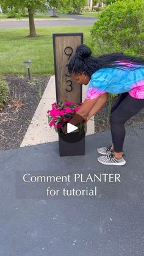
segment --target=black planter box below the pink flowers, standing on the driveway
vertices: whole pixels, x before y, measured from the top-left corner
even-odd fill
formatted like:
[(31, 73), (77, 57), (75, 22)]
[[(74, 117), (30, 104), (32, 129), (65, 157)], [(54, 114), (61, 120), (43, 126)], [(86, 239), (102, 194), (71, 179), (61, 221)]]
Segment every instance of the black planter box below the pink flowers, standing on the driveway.
[(59, 133), (60, 156), (85, 155), (85, 132)]

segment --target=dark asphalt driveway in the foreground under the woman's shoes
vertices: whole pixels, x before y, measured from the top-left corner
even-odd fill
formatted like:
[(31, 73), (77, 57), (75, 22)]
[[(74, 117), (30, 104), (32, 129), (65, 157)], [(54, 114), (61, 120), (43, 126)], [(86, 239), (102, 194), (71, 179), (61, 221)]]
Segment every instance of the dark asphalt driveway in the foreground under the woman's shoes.
[[(144, 124), (126, 128), (125, 166), (103, 166), (96, 147), (110, 132), (86, 136), (85, 156), (59, 157), (58, 142), (0, 151), (2, 256), (142, 256)], [(23, 174), (120, 175), (118, 183), (25, 183)], [(29, 176), (27, 176), (29, 177)], [(34, 181), (34, 178), (33, 178)], [(46, 196), (51, 188), (97, 188), (96, 196)]]

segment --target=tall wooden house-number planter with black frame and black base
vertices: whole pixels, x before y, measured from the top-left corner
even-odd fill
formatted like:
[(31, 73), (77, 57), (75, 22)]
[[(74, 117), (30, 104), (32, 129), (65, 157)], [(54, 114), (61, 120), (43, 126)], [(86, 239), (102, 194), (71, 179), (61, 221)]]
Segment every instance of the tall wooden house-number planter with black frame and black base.
[[(71, 78), (68, 64), (75, 53), (77, 45), (83, 43), (82, 33), (53, 34), (54, 70), (56, 78), (57, 103), (64, 101), (82, 101), (82, 84)], [(84, 133), (84, 131), (83, 131)], [(85, 154), (85, 134), (78, 132), (59, 133), (60, 156)]]

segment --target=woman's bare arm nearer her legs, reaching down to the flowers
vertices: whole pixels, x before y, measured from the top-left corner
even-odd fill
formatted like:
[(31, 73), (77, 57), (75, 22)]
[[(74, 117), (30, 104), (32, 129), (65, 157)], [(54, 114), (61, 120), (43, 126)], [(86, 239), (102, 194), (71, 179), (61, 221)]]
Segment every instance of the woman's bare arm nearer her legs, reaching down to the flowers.
[(90, 119), (90, 117), (95, 115), (104, 106), (104, 104), (107, 102), (108, 98), (109, 98), (109, 93), (104, 93), (98, 97), (98, 100), (94, 104), (91, 111), (88, 113), (87, 121)]

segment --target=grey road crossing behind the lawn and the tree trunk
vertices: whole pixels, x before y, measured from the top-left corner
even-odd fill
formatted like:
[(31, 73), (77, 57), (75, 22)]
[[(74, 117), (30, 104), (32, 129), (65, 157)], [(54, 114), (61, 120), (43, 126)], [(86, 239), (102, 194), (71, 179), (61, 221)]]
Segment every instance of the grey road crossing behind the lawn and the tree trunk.
[[(75, 19), (73, 19), (73, 16)], [(76, 17), (78, 16), (78, 17)], [(54, 26), (92, 26), (93, 23), (97, 20), (94, 18), (88, 18), (79, 15), (70, 15), (69, 20), (35, 20), (35, 26), (37, 27), (54, 27)], [(73, 19), (73, 20), (72, 20)], [(0, 21), (0, 29), (10, 29), (18, 27), (29, 27), (28, 20), (9, 20), (9, 21)]]

